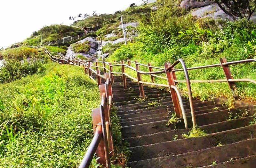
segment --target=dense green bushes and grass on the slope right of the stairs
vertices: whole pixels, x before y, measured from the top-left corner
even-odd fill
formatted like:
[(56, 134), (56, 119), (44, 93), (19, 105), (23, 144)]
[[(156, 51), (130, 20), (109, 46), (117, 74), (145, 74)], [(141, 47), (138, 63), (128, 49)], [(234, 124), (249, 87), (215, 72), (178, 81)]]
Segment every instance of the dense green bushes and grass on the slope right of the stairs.
[[(122, 45), (117, 49), (108, 61), (130, 58), (163, 67), (164, 62), (173, 63), (181, 58), (187, 67), (196, 67), (220, 63), (219, 58), (222, 57), (228, 61), (255, 58), (255, 28), (254, 23), (243, 19), (235, 22), (198, 19), (188, 11), (177, 8), (175, 3), (168, 3), (151, 12), (150, 17), (142, 17), (138, 27), (139, 36), (127, 46)], [(141, 68), (148, 71), (146, 67)], [(235, 79), (256, 79), (255, 63), (230, 68)], [(129, 73), (136, 76), (132, 71)], [(184, 80), (182, 72), (176, 74), (179, 80)], [(191, 80), (225, 79), (221, 67), (191, 70), (189, 77)], [(143, 79), (150, 81), (146, 75)], [(159, 79), (156, 82), (166, 83)], [(186, 91), (185, 84), (179, 84), (178, 87)], [(192, 83), (192, 92), (195, 98), (203, 101), (211, 96), (228, 97), (231, 104), (234, 98), (256, 101), (255, 85), (251, 83), (237, 83), (234, 93), (230, 92), (227, 83)]]

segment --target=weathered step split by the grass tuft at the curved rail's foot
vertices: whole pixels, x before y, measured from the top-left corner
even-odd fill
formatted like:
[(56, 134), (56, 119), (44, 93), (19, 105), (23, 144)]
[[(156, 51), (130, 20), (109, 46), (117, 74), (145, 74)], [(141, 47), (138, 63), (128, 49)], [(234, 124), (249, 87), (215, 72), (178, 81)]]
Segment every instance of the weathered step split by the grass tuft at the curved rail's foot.
[[(253, 116), (250, 117), (244, 117), (236, 120), (230, 120), (230, 121), (223, 121), (219, 123), (213, 123), (209, 125), (199, 126), (200, 129), (204, 130), (204, 132), (210, 134), (215, 132), (221, 132), (226, 131), (229, 129), (236, 129), (240, 127), (244, 127), (246, 125), (249, 125), (250, 122), (253, 120)], [(152, 134), (140, 134), (140, 135), (128, 135), (126, 132), (123, 132), (123, 137), (125, 141), (131, 143), (131, 144), (139, 144), (141, 142), (145, 142), (145, 144), (153, 144), (153, 143), (160, 143), (165, 141), (171, 141), (173, 138), (182, 138), (183, 133), (188, 133), (189, 129), (176, 129), (176, 130), (169, 130), (169, 131), (158, 131), (156, 133)]]

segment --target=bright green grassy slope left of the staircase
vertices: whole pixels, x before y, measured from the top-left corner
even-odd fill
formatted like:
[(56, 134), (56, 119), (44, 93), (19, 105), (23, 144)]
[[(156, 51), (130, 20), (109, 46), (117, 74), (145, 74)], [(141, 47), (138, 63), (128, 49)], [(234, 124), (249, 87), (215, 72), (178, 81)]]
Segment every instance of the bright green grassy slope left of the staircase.
[(92, 139), (97, 85), (80, 67), (46, 67), (0, 85), (0, 167), (77, 167)]

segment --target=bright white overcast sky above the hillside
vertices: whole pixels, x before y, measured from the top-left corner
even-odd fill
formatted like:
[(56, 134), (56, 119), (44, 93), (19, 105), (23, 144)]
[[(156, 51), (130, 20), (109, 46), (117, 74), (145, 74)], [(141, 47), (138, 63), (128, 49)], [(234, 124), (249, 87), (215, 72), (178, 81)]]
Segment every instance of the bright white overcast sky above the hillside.
[[(154, 1), (154, 0), (149, 0)], [(66, 3), (69, 2), (69, 3)], [(115, 13), (141, 0), (1, 0), (0, 48), (23, 41), (44, 25), (67, 24), (79, 13)]]

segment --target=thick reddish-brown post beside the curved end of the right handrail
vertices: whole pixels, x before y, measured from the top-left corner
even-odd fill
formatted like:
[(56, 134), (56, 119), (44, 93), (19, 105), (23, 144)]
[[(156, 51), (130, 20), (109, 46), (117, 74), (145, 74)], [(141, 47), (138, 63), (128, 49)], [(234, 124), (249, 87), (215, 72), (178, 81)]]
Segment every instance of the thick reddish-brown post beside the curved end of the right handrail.
[(171, 88), (171, 86), (175, 86), (175, 82), (174, 82), (174, 73), (171, 72), (171, 70), (167, 71), (166, 69), (170, 67), (170, 63), (169, 62), (165, 62), (164, 63), (164, 69), (165, 69), (165, 74), (166, 74), (166, 77), (167, 77), (167, 81), (168, 81), (168, 84), (169, 84), (169, 89), (170, 89), (170, 92), (171, 92), (171, 96), (172, 96), (172, 103), (173, 103), (173, 106), (174, 106), (174, 111), (176, 113), (176, 116), (178, 118), (182, 117), (182, 111), (180, 109), (180, 105), (179, 105), (179, 100), (178, 100), (178, 97), (177, 97), (177, 94), (175, 92), (175, 90), (173, 88)]

